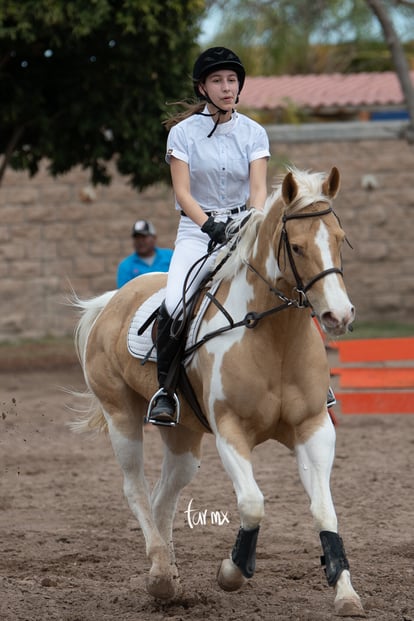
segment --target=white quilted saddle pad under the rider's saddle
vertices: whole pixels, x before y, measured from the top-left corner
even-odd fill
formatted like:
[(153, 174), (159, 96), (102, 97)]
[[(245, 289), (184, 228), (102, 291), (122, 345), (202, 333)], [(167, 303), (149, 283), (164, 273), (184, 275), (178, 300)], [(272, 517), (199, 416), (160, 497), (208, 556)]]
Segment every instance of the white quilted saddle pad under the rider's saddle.
[[(216, 283), (214, 287), (210, 288), (210, 293), (214, 295), (217, 291), (220, 283)], [(155, 293), (152, 294), (145, 302), (138, 308), (136, 311), (131, 325), (128, 330), (128, 351), (134, 358), (144, 359), (147, 358), (152, 362), (157, 360), (157, 352), (152, 342), (152, 326), (153, 322), (150, 323), (149, 326), (144, 330), (142, 334), (138, 334), (141, 326), (147, 321), (148, 317), (152, 315), (152, 313), (161, 306), (162, 301), (165, 298), (165, 287), (159, 289)], [(203, 301), (200, 306), (200, 310), (194, 319), (191, 321), (190, 329), (188, 332), (186, 348), (192, 347), (196, 343), (197, 335), (200, 330), (201, 321), (204, 317), (204, 313), (206, 312), (208, 306), (210, 304), (210, 299), (207, 296), (204, 296)], [(185, 364), (188, 365), (191, 361), (192, 355), (186, 358)]]

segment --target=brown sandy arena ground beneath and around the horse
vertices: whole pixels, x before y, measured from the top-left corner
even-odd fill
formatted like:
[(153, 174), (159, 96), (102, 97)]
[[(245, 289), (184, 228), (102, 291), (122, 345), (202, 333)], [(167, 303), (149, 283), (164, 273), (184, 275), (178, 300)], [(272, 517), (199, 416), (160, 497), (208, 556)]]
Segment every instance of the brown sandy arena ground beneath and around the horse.
[[(122, 493), (105, 436), (66, 423), (83, 389), (76, 365), (1, 371), (1, 621), (324, 621), (333, 591), (293, 456), (275, 443), (255, 451), (266, 498), (256, 574), (236, 593), (215, 575), (239, 527), (235, 497), (211, 437), (181, 497), (175, 545), (184, 594), (170, 604), (145, 591), (143, 538)], [(39, 370), (39, 367), (42, 367)], [(414, 416), (338, 416), (332, 490), (353, 584), (369, 619), (414, 621)], [(160, 466), (158, 431), (145, 431), (147, 472)], [(222, 525), (190, 528), (186, 509), (221, 511)]]

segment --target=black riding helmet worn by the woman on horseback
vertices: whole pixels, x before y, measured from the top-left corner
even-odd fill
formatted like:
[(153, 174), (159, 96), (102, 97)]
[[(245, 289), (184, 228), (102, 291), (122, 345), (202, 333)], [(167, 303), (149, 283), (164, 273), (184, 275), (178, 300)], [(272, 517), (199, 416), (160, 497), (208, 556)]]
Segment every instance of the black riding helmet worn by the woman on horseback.
[(246, 72), (240, 58), (226, 47), (210, 47), (202, 52), (194, 63), (193, 83), (194, 92), (198, 99), (206, 99), (199, 91), (198, 85), (210, 73), (220, 69), (231, 69), (235, 71), (239, 79), (239, 94), (243, 88)]

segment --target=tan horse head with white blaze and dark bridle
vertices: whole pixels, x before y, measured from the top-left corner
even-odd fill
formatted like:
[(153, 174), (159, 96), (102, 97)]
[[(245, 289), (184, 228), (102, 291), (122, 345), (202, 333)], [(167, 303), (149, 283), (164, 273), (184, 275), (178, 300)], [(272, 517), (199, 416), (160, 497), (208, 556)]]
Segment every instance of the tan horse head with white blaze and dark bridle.
[(355, 317), (343, 280), (345, 232), (332, 207), (339, 186), (336, 167), (329, 175), (290, 169), (279, 193), (279, 279), (312, 307), (330, 336), (345, 333)]

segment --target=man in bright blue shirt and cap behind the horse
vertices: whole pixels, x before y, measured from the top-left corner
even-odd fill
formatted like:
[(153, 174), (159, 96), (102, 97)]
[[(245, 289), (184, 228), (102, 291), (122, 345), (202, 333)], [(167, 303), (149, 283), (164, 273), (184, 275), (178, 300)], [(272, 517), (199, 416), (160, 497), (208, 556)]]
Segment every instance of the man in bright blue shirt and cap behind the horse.
[(141, 274), (168, 272), (170, 267), (172, 250), (156, 246), (156, 231), (152, 222), (137, 220), (131, 236), (135, 252), (118, 265), (118, 288)]

